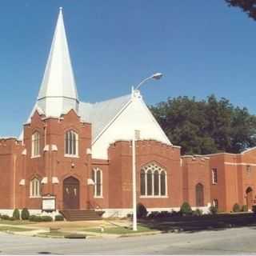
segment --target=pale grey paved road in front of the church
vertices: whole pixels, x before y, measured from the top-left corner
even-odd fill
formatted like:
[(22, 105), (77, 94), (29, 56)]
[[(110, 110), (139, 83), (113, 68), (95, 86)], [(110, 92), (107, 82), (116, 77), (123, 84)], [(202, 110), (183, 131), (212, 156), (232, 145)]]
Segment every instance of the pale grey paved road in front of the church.
[(35, 238), (0, 233), (1, 254), (256, 254), (256, 227), (130, 238)]

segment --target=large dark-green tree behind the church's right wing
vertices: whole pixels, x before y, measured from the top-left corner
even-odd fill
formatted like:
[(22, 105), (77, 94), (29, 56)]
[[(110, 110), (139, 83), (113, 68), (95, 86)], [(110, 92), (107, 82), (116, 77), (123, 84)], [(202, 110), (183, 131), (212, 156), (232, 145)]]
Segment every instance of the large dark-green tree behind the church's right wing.
[(226, 98), (168, 98), (150, 109), (182, 154), (240, 153), (256, 146), (256, 116)]

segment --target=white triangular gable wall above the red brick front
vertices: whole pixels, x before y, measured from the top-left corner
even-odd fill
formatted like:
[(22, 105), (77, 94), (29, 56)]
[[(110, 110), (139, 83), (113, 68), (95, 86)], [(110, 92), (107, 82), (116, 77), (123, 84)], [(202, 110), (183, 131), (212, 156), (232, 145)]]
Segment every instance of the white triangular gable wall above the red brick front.
[(143, 102), (141, 95), (134, 93), (126, 106), (111, 120), (92, 143), (92, 157), (107, 159), (110, 143), (117, 140), (131, 140), (134, 130), (140, 130), (140, 139), (154, 139), (171, 145), (166, 134), (158, 125), (153, 114)]

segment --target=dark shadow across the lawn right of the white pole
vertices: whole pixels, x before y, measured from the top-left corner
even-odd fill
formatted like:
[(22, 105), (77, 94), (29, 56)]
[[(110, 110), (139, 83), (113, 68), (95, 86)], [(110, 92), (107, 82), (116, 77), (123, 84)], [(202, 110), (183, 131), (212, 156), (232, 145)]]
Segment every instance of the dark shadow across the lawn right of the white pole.
[(199, 231), (219, 231), (232, 227), (250, 226), (256, 229), (256, 214), (217, 214), (203, 216), (180, 216), (169, 218), (143, 218), (141, 226), (163, 233), (194, 233)]

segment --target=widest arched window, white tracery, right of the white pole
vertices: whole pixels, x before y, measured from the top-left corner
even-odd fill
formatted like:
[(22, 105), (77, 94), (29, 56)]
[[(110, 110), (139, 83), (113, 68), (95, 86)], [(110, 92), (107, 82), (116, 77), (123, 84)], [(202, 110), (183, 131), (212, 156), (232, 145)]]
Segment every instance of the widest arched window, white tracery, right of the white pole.
[(141, 195), (145, 197), (166, 197), (166, 171), (151, 163), (141, 170)]

